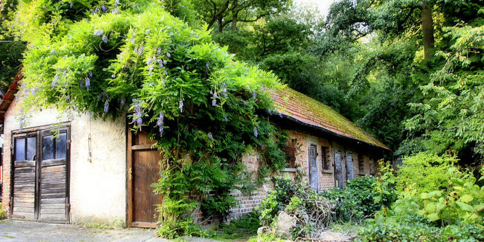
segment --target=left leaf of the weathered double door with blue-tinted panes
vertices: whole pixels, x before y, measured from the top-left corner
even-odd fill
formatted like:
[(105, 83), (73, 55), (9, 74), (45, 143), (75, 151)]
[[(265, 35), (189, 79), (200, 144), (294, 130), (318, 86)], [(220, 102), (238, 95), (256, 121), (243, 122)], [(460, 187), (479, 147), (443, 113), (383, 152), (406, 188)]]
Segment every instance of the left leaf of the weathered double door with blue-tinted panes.
[(11, 217), (36, 220), (36, 153), (37, 134), (27, 133), (13, 138), (12, 212)]

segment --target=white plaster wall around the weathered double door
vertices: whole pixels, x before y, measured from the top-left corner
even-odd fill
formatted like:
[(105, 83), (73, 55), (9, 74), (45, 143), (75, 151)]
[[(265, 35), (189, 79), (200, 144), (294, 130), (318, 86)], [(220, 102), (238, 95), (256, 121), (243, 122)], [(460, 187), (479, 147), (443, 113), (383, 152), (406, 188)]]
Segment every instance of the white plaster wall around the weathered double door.
[[(12, 103), (4, 120), (4, 132), (19, 129)], [(89, 115), (67, 115), (55, 109), (31, 113), (26, 127), (71, 122), (70, 203), (71, 222), (112, 223), (126, 215), (126, 124), (124, 119), (106, 121)], [(29, 116), (29, 115), (28, 115)], [(122, 117), (122, 116), (121, 116)], [(88, 137), (91, 146), (88, 147)], [(88, 153), (91, 151), (91, 158)]]

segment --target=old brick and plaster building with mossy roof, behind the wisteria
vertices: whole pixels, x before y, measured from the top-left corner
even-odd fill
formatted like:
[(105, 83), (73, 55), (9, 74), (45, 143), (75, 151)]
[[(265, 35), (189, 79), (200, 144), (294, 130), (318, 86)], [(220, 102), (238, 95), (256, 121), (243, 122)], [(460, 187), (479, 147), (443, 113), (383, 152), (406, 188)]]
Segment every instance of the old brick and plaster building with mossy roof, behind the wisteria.
[[(69, 118), (55, 108), (30, 113), (20, 129), (15, 93), (19, 73), (0, 102), (3, 125), (2, 206), (12, 219), (52, 223), (107, 222), (154, 227), (154, 204), (162, 202), (150, 184), (159, 177), (159, 152), (144, 132), (132, 133), (126, 119)], [(289, 133), (287, 168), (296, 168), (313, 189), (344, 187), (352, 178), (375, 173), (375, 160), (388, 151), (381, 142), (328, 106), (285, 88), (276, 94), (270, 120)], [(53, 136), (53, 131), (57, 133)], [(244, 162), (256, 170), (256, 155)], [(234, 190), (232, 217), (251, 212), (273, 186), (251, 195)]]

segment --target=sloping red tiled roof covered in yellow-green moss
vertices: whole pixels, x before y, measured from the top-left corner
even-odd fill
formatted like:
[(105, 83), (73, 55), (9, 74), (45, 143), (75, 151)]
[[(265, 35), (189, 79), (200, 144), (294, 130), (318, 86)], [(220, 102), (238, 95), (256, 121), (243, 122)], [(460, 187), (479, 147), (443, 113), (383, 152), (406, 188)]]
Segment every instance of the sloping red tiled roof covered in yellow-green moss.
[(278, 112), (306, 124), (350, 139), (389, 150), (371, 134), (356, 126), (327, 105), (288, 87), (276, 91)]

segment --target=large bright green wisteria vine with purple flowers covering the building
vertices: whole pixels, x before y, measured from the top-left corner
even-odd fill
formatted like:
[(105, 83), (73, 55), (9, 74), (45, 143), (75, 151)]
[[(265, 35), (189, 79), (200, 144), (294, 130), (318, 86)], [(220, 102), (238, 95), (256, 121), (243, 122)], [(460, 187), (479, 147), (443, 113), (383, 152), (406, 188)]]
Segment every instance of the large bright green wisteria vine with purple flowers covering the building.
[(232, 189), (264, 182), (267, 172), (246, 171), (246, 152), (271, 172), (285, 166), (284, 134), (267, 112), (277, 78), (235, 60), (163, 1), (26, 1), (12, 27), (28, 42), (21, 124), (28, 111), (56, 106), (104, 120), (127, 114), (134, 130), (149, 131), (163, 157), (153, 184), (162, 235), (196, 232), (199, 213), (227, 216)]

